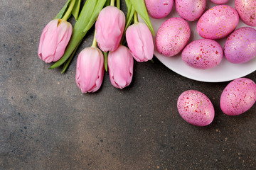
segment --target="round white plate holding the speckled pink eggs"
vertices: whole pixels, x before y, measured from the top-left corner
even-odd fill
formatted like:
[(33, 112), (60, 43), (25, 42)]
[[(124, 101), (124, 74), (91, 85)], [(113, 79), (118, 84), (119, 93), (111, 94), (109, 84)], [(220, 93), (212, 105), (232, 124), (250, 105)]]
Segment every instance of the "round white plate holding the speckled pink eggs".
[[(226, 5), (229, 6), (235, 6), (234, 1), (229, 1)], [(215, 6), (212, 2), (209, 0), (207, 1), (207, 7), (211, 8)], [(169, 16), (166, 16), (166, 18), (162, 19), (154, 19), (150, 18), (152, 26), (154, 28), (155, 33), (157, 33), (157, 30), (161, 26), (166, 19), (171, 17), (179, 17), (178, 13), (175, 10), (175, 6), (173, 6), (171, 13)], [(142, 18), (139, 17), (139, 21), (142, 21)], [(191, 28), (191, 38), (189, 42), (193, 40), (202, 39), (200, 35), (198, 35), (196, 31), (196, 23), (197, 21), (189, 22), (188, 24)], [(245, 23), (242, 23), (242, 21), (239, 21), (238, 28), (247, 26)], [(255, 28), (255, 27), (253, 27)], [(220, 45), (223, 47), (225, 44), (226, 38), (223, 38), (221, 40), (216, 40), (220, 43)], [(154, 39), (155, 41), (155, 39)], [(189, 43), (188, 42), (188, 43)], [(225, 60), (225, 57), (223, 57), (223, 60), (220, 62), (220, 64), (217, 67), (214, 67), (212, 69), (194, 69), (192, 67), (189, 67), (185, 62), (181, 60), (181, 53), (174, 57), (165, 57), (164, 55), (159, 54), (157, 52), (156, 47), (154, 48), (154, 55), (158, 58), (160, 62), (162, 62), (166, 67), (171, 69), (172, 71), (180, 74), (183, 77), (187, 77), (189, 79), (194, 79), (197, 81), (205, 81), (205, 82), (223, 82), (223, 81), (230, 81), (233, 79), (238, 79), (240, 77), (244, 77), (247, 74), (250, 74), (252, 72), (255, 72), (256, 70), (256, 57), (253, 60), (250, 60), (250, 62), (246, 62), (243, 64), (232, 64)]]

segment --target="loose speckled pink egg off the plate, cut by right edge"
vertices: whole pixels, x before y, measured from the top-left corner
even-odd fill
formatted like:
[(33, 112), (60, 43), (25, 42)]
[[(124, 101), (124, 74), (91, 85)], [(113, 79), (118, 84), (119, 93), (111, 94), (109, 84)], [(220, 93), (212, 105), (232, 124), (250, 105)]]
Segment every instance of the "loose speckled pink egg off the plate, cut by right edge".
[(235, 79), (225, 87), (220, 96), (220, 108), (227, 115), (240, 115), (256, 101), (256, 84), (251, 79)]

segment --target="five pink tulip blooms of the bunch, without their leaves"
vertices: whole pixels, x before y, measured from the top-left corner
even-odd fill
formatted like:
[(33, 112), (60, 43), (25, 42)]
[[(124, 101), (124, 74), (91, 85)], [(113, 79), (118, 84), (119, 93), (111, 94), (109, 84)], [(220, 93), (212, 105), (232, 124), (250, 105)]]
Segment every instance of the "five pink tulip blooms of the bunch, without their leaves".
[[(132, 15), (134, 23), (127, 26), (124, 13), (119, 9), (119, 5), (114, 6), (113, 0), (110, 6), (100, 11), (95, 23), (92, 46), (80, 52), (76, 63), (75, 81), (82, 93), (100, 89), (105, 69), (109, 72), (111, 84), (123, 89), (132, 81), (134, 60), (146, 62), (152, 59), (154, 43), (151, 30), (145, 23), (138, 22), (136, 11)], [(44, 62), (60, 60), (70, 42), (73, 27), (65, 21), (65, 17), (63, 18), (50, 21), (43, 29), (38, 57)], [(125, 30), (126, 26), (127, 30)], [(129, 48), (122, 45), (124, 35)]]

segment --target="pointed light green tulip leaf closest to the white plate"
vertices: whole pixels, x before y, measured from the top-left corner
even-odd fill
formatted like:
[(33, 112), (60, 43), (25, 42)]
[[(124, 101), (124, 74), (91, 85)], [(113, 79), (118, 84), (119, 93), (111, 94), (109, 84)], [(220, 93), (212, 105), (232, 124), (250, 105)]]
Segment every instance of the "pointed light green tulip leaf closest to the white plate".
[(135, 11), (139, 14), (139, 16), (142, 17), (146, 25), (149, 27), (149, 30), (151, 31), (152, 35), (154, 36), (154, 28), (151, 24), (151, 21), (149, 19), (149, 14), (146, 11), (146, 5), (144, 0), (129, 0), (132, 3), (132, 6), (134, 7)]

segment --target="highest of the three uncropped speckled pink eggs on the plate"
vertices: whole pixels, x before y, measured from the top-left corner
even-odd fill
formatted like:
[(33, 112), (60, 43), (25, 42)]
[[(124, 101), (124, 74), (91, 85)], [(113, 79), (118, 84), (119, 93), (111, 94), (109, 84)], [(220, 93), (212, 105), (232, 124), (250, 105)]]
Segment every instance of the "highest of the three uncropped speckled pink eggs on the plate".
[(203, 38), (220, 39), (230, 35), (238, 26), (239, 16), (234, 8), (219, 5), (210, 8), (199, 18), (196, 29)]

